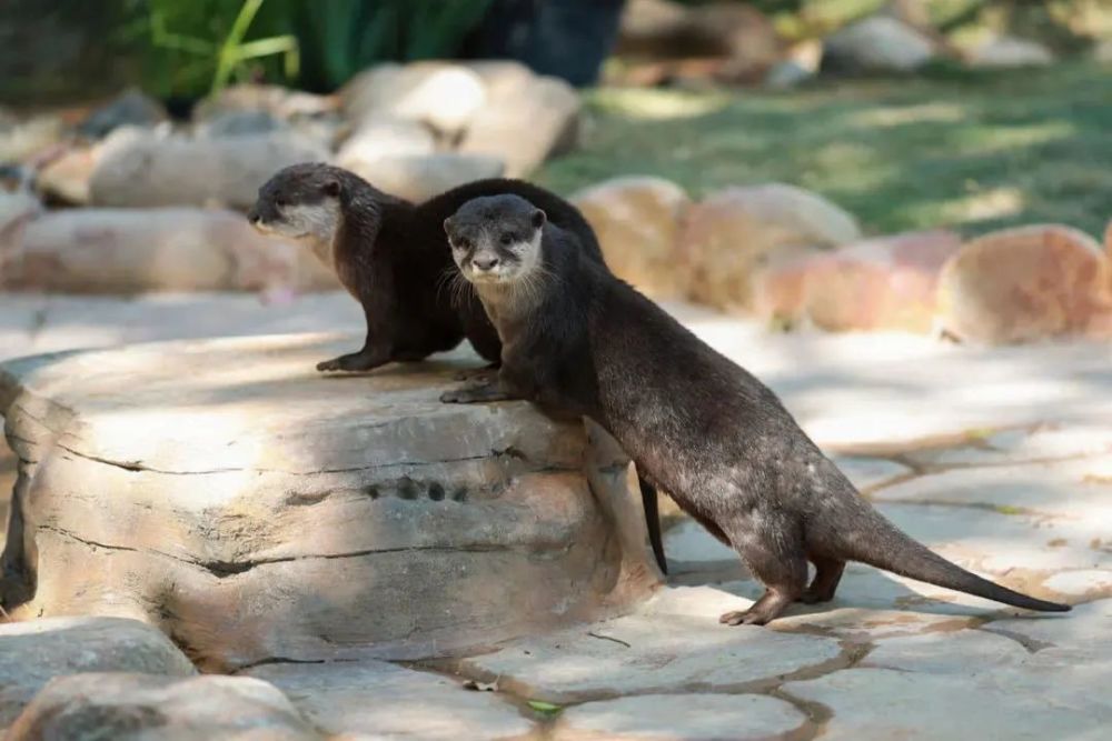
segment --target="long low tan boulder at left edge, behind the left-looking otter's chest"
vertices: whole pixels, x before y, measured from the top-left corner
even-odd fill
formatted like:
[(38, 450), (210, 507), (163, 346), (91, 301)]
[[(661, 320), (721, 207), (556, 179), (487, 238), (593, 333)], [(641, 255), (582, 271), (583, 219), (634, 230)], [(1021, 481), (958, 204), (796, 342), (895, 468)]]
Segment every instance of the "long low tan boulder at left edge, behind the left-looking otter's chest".
[(29, 222), (0, 287), (66, 293), (335, 289), (312, 254), (230, 211), (75, 209)]

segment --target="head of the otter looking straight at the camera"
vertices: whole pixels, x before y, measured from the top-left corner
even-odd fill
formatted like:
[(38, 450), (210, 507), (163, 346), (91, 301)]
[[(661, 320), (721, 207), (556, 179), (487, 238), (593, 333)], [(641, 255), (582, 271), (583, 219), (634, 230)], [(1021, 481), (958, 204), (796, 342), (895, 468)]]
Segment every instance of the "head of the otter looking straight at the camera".
[(444, 221), (451, 257), (476, 286), (513, 284), (540, 262), (545, 212), (518, 196), (488, 196), (464, 203)]

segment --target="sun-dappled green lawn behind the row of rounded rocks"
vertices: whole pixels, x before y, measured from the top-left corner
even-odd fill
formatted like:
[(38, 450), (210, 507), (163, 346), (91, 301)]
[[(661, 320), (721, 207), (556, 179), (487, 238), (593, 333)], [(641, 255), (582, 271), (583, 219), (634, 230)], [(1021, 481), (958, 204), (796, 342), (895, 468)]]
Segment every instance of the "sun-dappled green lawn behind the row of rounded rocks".
[(538, 179), (558, 192), (654, 174), (693, 196), (788, 182), (888, 233), (1112, 218), (1112, 68), (824, 81), (801, 91), (588, 93), (582, 146)]

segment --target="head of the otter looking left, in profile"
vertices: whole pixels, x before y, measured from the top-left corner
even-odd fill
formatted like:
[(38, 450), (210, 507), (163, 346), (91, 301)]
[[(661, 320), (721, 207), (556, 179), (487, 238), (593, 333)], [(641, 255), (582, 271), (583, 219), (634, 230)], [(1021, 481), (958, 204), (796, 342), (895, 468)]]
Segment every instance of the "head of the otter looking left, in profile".
[(259, 188), (247, 218), (259, 232), (330, 243), (340, 222), (342, 181), (326, 164), (295, 164)]

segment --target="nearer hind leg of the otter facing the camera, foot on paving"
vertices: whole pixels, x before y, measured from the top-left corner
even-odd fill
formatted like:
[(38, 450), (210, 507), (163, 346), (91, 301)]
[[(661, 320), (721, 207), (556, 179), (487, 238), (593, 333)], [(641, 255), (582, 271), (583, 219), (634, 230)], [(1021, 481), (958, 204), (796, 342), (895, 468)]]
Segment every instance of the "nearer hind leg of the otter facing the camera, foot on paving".
[(725, 528), (749, 572), (765, 593), (748, 610), (723, 614), (728, 625), (764, 625), (795, 602), (807, 587), (807, 557), (798, 528), (764, 514), (746, 517)]

